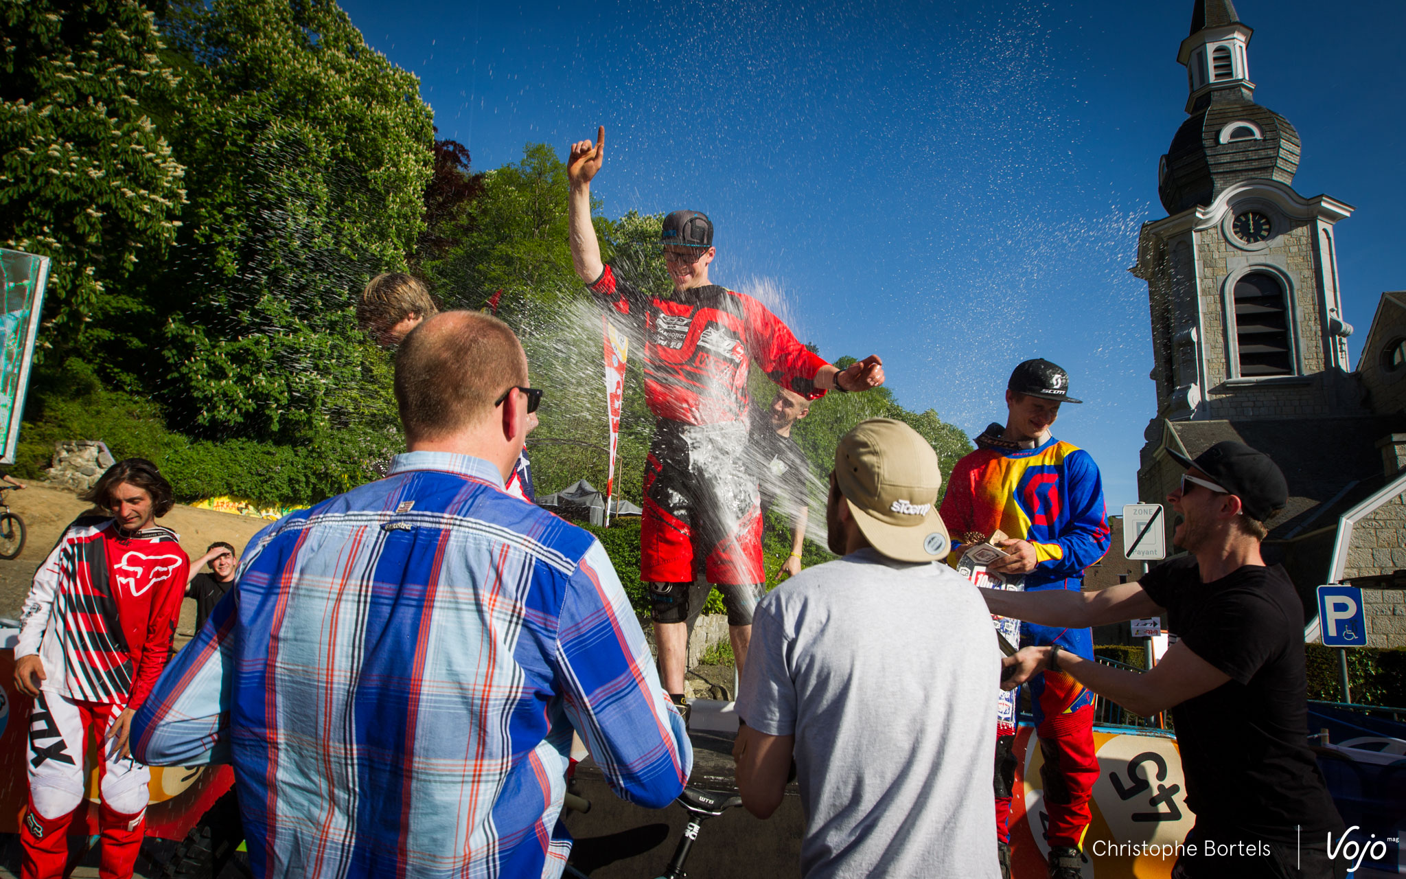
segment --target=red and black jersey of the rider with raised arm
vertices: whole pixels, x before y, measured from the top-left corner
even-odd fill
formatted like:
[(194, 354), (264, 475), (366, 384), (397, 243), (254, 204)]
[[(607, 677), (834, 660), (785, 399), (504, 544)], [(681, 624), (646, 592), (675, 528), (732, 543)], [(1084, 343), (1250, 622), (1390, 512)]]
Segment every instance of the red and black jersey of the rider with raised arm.
[(651, 297), (620, 283), (610, 266), (591, 291), (636, 328), (643, 323), (644, 397), (659, 418), (686, 425), (741, 421), (751, 360), (806, 399), (825, 395), (815, 387), (825, 361), (747, 294), (710, 284)]

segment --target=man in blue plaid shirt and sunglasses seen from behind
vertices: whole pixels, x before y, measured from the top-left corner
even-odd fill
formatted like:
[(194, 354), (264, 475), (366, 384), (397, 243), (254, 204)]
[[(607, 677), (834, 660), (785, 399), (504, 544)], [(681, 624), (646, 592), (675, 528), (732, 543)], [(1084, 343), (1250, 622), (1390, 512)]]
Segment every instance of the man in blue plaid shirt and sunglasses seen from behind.
[(259, 876), (558, 876), (571, 734), (662, 807), (693, 752), (600, 543), (503, 491), (541, 392), (506, 325), (401, 345), (409, 453), (285, 516), (132, 726), (232, 761)]

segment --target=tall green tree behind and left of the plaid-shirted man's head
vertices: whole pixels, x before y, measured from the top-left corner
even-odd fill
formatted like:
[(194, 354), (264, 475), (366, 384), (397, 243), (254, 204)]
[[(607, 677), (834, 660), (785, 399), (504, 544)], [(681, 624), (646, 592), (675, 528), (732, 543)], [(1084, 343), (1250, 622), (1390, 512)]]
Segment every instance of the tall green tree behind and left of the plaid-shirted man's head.
[(423, 229), (418, 80), (329, 0), (184, 3), (170, 21), (191, 173), (180, 259), (149, 291), (169, 315), (169, 415), (208, 435), (384, 432), (388, 388), (364, 381), (381, 354), (350, 309)]

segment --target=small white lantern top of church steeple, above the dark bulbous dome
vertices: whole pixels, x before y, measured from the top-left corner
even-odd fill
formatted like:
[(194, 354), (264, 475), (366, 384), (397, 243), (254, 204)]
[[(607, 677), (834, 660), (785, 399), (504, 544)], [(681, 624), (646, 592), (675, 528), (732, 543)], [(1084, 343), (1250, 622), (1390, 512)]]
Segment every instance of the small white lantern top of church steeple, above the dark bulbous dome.
[(1187, 68), (1191, 89), (1187, 113), (1204, 110), (1216, 98), (1251, 100), (1249, 46), (1253, 34), (1230, 0), (1197, 0), (1191, 11), (1191, 35), (1181, 41), (1177, 53), (1177, 60)]

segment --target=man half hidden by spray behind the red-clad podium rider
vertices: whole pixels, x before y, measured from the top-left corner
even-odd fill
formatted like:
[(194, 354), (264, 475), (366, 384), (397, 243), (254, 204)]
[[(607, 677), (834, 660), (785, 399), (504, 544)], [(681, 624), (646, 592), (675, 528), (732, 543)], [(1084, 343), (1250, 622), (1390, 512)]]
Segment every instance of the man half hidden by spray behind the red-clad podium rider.
[(810, 461), (792, 437), (792, 428), (810, 413), (810, 401), (786, 388), (776, 388), (772, 405), (752, 411), (751, 458), (762, 496), (762, 516), (773, 506), (790, 522), (792, 551), (780, 572), (800, 574), (800, 551), (810, 520)]

